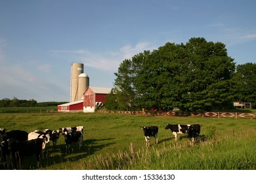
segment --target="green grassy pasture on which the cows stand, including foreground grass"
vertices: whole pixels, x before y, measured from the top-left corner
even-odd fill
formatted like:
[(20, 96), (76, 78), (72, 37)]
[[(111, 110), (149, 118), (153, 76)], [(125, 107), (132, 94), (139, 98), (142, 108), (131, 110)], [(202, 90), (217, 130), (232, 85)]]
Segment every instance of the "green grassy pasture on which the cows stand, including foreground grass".
[[(200, 124), (200, 141), (194, 146), (186, 135), (175, 142), (170, 124)], [(256, 169), (256, 120), (86, 113), (0, 113), (0, 127), (7, 131), (34, 131), (84, 125), (83, 146), (72, 144), (65, 154), (64, 137), (40, 169)], [(140, 126), (158, 125), (158, 145), (145, 146)], [(131, 142), (133, 143), (131, 152)], [(24, 158), (23, 169), (36, 169), (36, 158)], [(12, 164), (0, 162), (0, 169)]]

